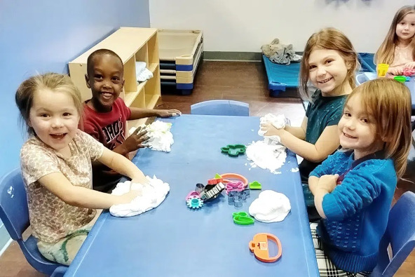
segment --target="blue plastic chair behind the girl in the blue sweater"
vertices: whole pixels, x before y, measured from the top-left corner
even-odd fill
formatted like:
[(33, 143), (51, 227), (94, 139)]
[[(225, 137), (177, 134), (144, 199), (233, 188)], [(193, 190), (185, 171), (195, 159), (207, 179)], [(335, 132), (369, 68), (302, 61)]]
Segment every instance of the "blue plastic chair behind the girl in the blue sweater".
[[(379, 245), (379, 260), (371, 276), (393, 276), (415, 247), (415, 194), (407, 191), (389, 212), (388, 227)], [(392, 259), (388, 245), (392, 248)]]

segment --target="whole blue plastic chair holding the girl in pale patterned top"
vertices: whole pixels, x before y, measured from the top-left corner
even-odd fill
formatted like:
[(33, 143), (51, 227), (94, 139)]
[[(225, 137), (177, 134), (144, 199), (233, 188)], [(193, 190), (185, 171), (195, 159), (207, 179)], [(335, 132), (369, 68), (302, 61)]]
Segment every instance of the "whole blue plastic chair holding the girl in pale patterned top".
[(17, 241), (27, 262), (34, 269), (49, 276), (63, 276), (67, 266), (50, 262), (43, 257), (32, 235), (23, 241), (22, 234), (29, 227), (29, 209), (25, 184), (23, 184), (20, 169), (17, 168), (0, 180), (0, 219), (8, 234)]

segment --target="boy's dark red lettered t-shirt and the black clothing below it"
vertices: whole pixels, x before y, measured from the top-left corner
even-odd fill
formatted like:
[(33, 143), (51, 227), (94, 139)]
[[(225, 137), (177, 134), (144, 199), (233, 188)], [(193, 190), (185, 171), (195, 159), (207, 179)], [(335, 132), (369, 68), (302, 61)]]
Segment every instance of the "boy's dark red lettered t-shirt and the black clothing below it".
[[(89, 100), (88, 100), (89, 101)], [(118, 97), (112, 105), (111, 112), (96, 112), (83, 103), (83, 131), (93, 136), (95, 140), (112, 150), (125, 141), (128, 133), (127, 120), (130, 118), (130, 108)], [(93, 164), (93, 189), (110, 191), (122, 176), (102, 164)]]

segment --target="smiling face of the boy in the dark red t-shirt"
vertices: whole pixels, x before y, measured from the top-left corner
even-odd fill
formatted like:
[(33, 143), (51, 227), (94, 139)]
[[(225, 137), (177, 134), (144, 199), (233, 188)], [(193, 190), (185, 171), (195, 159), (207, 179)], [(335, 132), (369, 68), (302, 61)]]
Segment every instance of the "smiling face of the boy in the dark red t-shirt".
[(93, 68), (86, 76), (92, 90), (92, 104), (97, 111), (109, 112), (124, 86), (123, 63), (114, 55), (103, 54), (93, 58)]

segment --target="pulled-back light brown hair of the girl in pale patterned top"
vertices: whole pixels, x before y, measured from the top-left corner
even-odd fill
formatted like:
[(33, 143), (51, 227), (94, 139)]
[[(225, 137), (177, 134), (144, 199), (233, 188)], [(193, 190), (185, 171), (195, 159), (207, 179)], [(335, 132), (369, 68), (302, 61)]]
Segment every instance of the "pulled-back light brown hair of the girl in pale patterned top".
[(15, 95), (15, 102), (20, 111), (20, 118), (25, 121), (27, 133), (29, 133), (29, 135), (36, 135), (33, 128), (28, 124), (34, 94), (45, 88), (54, 92), (59, 91), (67, 93), (71, 96), (72, 100), (74, 100), (76, 111), (78, 112), (80, 119), (82, 118), (83, 107), (81, 93), (79, 92), (79, 89), (76, 88), (74, 83), (72, 83), (69, 76), (57, 73), (46, 73), (32, 76), (20, 84)]

